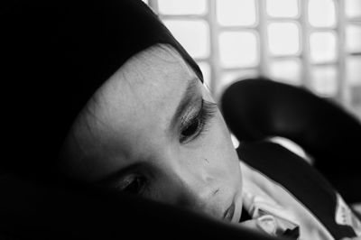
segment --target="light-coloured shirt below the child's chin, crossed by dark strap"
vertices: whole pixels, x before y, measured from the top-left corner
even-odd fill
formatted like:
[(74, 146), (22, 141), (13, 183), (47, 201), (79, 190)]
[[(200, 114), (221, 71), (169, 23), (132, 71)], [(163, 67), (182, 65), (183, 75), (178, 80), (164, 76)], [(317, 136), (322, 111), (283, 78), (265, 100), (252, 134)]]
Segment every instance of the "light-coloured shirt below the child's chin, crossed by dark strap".
[[(264, 225), (266, 232), (270, 235), (282, 235), (287, 229), (299, 227), (298, 239), (335, 239), (319, 219), (281, 184), (245, 162), (240, 162), (240, 167), (243, 174), (244, 208), (252, 218), (258, 219), (260, 224)], [(356, 217), (352, 217), (349, 209), (347, 211), (348, 207), (342, 204), (344, 201), (339, 195), (338, 199), (341, 203), (338, 209), (345, 208), (345, 223), (354, 226), (356, 234), (361, 235), (361, 223)], [(336, 213), (336, 217), (338, 216), (341, 215)]]

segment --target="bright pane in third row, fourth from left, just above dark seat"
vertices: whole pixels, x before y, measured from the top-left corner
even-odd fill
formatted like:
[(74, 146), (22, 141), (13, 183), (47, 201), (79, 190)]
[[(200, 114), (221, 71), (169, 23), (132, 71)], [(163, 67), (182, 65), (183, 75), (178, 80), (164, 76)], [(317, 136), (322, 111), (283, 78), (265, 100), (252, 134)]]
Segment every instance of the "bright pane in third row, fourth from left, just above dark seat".
[(321, 97), (335, 97), (338, 93), (335, 67), (316, 67), (312, 70), (312, 89)]

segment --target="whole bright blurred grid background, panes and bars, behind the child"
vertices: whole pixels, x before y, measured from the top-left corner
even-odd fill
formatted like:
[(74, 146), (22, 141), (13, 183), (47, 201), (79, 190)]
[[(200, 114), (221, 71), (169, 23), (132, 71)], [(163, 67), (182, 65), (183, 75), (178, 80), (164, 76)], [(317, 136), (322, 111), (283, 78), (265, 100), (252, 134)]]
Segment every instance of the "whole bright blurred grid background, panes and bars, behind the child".
[(264, 76), (361, 120), (361, 0), (144, 0), (199, 63), (216, 99)]

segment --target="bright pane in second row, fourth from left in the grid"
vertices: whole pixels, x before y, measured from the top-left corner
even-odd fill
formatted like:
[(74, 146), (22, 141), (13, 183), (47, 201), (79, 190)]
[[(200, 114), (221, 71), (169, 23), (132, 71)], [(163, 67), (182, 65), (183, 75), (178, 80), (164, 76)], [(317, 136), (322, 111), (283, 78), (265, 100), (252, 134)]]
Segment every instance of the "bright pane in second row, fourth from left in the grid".
[(336, 59), (336, 35), (332, 32), (310, 34), (310, 60), (315, 63)]

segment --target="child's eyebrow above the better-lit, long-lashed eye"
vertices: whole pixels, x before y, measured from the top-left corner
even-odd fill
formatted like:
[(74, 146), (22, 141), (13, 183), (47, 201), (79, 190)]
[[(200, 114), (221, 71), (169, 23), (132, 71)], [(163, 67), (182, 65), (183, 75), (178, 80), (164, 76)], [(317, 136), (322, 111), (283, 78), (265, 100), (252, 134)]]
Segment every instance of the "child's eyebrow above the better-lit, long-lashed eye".
[(171, 129), (174, 125), (177, 124), (178, 119), (180, 119), (180, 115), (183, 114), (185, 109), (190, 106), (192, 100), (196, 97), (198, 92), (198, 78), (192, 78), (188, 82), (187, 88), (183, 91), (182, 97), (180, 98), (180, 103), (177, 106), (174, 115), (171, 117), (171, 125), (169, 129)]

